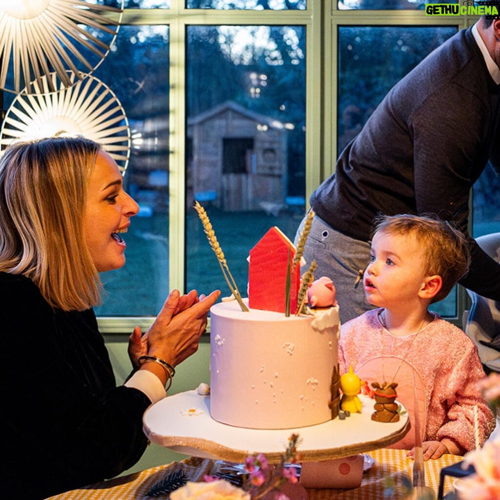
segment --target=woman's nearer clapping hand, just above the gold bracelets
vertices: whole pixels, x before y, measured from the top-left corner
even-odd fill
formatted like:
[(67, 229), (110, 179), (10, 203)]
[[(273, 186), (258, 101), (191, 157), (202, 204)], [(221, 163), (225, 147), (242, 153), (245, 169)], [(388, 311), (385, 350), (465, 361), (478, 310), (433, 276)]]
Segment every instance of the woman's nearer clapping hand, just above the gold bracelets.
[(146, 332), (145, 354), (176, 366), (196, 352), (199, 337), (206, 328), (207, 313), (219, 295), (220, 291), (215, 290), (198, 299), (192, 291), (179, 297), (179, 292), (173, 290)]

